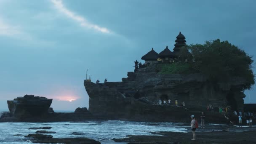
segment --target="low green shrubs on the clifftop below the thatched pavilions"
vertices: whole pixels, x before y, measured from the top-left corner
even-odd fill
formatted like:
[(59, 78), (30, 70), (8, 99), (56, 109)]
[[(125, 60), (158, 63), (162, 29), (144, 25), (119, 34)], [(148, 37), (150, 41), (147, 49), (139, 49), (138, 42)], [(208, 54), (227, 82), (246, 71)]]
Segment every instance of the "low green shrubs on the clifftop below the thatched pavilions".
[(189, 63), (161, 64), (161, 74), (189, 74), (192, 73), (192, 65)]

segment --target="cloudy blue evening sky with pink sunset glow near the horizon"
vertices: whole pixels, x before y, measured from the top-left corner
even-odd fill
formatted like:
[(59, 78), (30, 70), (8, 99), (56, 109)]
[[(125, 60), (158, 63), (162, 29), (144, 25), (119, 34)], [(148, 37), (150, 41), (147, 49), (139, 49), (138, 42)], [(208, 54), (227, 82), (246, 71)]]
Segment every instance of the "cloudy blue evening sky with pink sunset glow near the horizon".
[[(256, 61), (254, 0), (0, 0), (0, 110), (32, 94), (54, 110), (88, 107), (86, 70), (121, 81), (154, 48), (228, 40)], [(253, 71), (256, 72), (255, 64)], [(245, 103), (256, 103), (255, 85)]]

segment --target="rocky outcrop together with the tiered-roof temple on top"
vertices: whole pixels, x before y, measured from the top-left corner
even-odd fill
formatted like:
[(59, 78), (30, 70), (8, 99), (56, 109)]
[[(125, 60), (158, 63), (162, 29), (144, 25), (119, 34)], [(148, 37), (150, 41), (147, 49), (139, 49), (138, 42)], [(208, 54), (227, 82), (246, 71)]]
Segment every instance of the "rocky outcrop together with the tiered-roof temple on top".
[[(108, 117), (128, 118), (139, 115), (146, 118), (148, 113), (156, 117), (165, 112), (169, 115), (170, 111), (179, 115), (180, 112), (186, 113), (186, 109), (196, 110), (200, 114), (209, 104), (216, 111), (219, 107), (243, 110), (245, 95), (239, 90), (245, 84), (243, 79), (235, 77), (225, 83), (212, 83), (202, 73), (182, 73), (180, 69), (189, 67), (195, 61), (181, 32), (174, 46), (173, 51), (166, 46), (160, 53), (152, 48), (141, 57), (145, 62), (134, 61), (134, 72), (128, 72), (128, 77), (122, 78), (121, 82), (95, 84), (85, 80), (85, 89), (90, 97), (89, 111)], [(162, 109), (158, 101), (168, 99), (171, 106)], [(176, 111), (173, 108), (176, 100), (179, 106), (182, 103), (186, 106)]]

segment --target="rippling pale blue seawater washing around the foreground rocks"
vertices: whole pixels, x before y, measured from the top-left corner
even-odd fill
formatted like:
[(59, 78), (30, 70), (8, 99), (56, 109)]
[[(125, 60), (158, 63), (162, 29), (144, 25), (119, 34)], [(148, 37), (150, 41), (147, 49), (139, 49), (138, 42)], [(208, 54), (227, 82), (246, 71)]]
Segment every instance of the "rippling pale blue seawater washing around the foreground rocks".
[[(222, 131), (225, 128), (225, 125), (219, 124), (209, 124), (208, 126), (207, 131)], [(0, 144), (32, 144), (31, 141), (24, 138), (24, 136), (38, 131), (29, 129), (32, 127), (52, 127), (51, 129), (39, 130), (56, 132), (49, 133), (53, 138), (86, 137), (100, 141), (101, 144), (126, 144), (124, 142), (114, 142), (112, 139), (125, 138), (128, 135), (150, 136), (157, 135), (151, 132), (159, 131), (191, 132), (189, 123), (147, 123), (118, 120), (85, 121), (83, 123), (0, 123)], [(253, 127), (256, 128), (256, 125), (253, 125)], [(200, 131), (203, 131), (203, 129), (199, 129), (197, 132)], [(242, 131), (246, 131), (246, 128)], [(73, 132), (83, 133), (83, 135), (73, 135)]]

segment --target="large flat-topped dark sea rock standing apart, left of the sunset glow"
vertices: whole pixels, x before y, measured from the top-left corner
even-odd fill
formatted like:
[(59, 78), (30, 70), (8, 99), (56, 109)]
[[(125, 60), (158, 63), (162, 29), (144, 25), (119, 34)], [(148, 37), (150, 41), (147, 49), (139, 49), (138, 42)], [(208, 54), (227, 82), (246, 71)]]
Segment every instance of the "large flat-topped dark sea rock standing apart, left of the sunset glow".
[(51, 103), (52, 99), (34, 95), (25, 95), (7, 101), (8, 109), (15, 117), (43, 115), (48, 112)]

